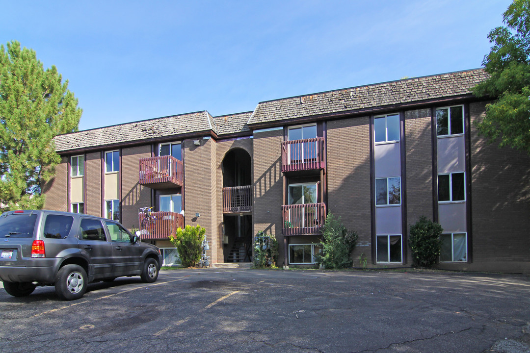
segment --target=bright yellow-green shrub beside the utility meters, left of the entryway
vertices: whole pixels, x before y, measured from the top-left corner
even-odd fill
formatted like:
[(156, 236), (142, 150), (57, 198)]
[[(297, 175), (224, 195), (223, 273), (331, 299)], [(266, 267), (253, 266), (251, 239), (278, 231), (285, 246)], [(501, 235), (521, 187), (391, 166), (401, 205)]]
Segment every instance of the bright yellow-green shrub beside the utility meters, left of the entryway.
[(206, 234), (206, 229), (200, 225), (197, 227), (187, 225), (184, 229), (179, 227), (174, 235), (169, 236), (169, 240), (179, 252), (182, 266), (195, 267), (199, 263), (204, 234)]

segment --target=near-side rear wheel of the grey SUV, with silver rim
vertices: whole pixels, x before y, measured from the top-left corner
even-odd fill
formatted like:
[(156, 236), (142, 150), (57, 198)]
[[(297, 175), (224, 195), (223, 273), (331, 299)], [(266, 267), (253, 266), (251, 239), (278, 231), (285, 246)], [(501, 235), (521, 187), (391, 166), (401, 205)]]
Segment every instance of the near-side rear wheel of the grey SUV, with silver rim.
[(87, 285), (86, 271), (83, 267), (73, 264), (61, 267), (55, 279), (55, 291), (64, 300), (81, 298)]

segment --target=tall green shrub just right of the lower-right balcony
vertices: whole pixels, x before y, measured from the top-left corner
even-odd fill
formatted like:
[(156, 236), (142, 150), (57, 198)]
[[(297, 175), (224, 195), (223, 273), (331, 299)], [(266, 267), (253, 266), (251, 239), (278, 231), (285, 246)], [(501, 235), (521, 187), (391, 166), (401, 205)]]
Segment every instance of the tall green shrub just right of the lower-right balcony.
[(329, 213), (322, 228), (322, 253), (316, 256), (316, 261), (325, 268), (351, 267), (353, 260), (351, 251), (357, 243), (357, 233), (349, 231), (339, 219)]

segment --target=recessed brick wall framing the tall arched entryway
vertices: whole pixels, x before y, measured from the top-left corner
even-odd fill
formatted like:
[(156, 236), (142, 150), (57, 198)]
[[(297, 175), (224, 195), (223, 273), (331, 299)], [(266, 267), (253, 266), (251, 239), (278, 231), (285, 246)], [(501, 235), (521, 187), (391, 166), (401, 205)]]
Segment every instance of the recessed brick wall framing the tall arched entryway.
[(217, 142), (216, 144), (216, 190), (215, 190), (215, 197), (216, 197), (216, 212), (217, 212), (217, 229), (218, 234), (216, 234), (216, 242), (217, 246), (215, 249), (210, 246), (210, 249), (213, 249), (213, 251), (216, 251), (216, 256), (219, 262), (223, 262), (224, 260), (224, 254), (223, 254), (223, 232), (221, 230), (221, 223), (224, 220), (223, 217), (223, 170), (221, 169), (223, 165), (223, 159), (226, 156), (226, 153), (228, 151), (235, 149), (235, 148), (241, 148), (244, 149), (249, 153), (251, 156), (251, 163), (252, 163), (252, 139), (243, 139), (243, 140), (235, 140), (235, 141), (221, 141)]

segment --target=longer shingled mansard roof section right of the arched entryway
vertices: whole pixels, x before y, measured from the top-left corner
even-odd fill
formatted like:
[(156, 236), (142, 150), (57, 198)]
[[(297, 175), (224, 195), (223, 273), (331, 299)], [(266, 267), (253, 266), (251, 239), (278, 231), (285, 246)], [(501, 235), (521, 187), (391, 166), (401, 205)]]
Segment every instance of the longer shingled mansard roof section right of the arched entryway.
[(297, 117), (467, 95), (472, 87), (486, 78), (488, 74), (483, 69), (474, 69), (275, 99), (260, 102), (247, 124), (260, 125)]

